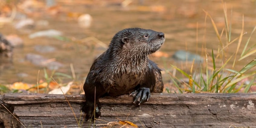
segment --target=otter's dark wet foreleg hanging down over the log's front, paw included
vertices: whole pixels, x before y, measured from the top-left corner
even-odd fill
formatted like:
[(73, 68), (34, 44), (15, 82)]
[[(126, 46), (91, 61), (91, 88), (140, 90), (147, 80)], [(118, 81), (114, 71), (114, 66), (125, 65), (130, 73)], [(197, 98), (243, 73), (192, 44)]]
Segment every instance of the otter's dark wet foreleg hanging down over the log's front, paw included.
[[(96, 91), (95, 91), (96, 89)], [(101, 115), (101, 105), (99, 103), (99, 98), (101, 98), (106, 92), (102, 85), (84, 85), (85, 91), (85, 104), (82, 107), (82, 111), (85, 112), (86, 120), (89, 120), (91, 117), (98, 118)], [(95, 111), (95, 113), (94, 113)], [(94, 115), (95, 114), (95, 115)]]

